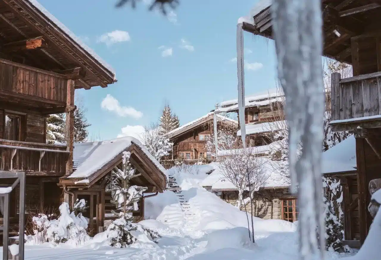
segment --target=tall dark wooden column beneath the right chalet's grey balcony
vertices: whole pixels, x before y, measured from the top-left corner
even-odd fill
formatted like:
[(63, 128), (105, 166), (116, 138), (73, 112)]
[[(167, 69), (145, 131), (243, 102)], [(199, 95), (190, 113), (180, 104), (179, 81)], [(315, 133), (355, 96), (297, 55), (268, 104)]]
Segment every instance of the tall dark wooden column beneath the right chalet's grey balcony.
[(367, 181), (365, 170), (365, 138), (356, 138), (356, 160), (357, 160), (357, 187), (359, 196), (359, 222), (360, 222), (360, 243), (363, 244), (368, 230), (367, 214)]

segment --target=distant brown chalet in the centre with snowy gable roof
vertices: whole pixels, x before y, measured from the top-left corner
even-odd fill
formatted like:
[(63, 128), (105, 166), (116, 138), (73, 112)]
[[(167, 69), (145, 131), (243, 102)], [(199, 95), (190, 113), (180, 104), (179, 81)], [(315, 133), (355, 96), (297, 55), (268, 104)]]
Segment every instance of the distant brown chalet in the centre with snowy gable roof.
[[(236, 120), (221, 115), (216, 116), (218, 129), (226, 127), (232, 129), (233, 132), (237, 130), (238, 122)], [(166, 133), (166, 137), (173, 143), (172, 153), (167, 161), (184, 159), (192, 162), (200, 159), (213, 159), (213, 155), (207, 154), (206, 147), (207, 138), (213, 132), (213, 112), (211, 112)]]

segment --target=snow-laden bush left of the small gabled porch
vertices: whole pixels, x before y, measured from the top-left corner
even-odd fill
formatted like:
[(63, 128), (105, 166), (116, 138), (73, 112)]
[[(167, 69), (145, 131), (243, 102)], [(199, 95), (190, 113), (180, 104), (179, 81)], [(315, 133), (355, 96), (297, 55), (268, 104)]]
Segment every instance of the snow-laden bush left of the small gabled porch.
[(87, 233), (88, 222), (82, 216), (86, 209), (85, 200), (77, 200), (73, 211), (70, 213), (69, 204), (66, 202), (59, 206), (60, 216), (57, 220), (52, 220), (47, 230), (49, 241), (55, 244), (70, 243), (80, 246), (90, 239)]

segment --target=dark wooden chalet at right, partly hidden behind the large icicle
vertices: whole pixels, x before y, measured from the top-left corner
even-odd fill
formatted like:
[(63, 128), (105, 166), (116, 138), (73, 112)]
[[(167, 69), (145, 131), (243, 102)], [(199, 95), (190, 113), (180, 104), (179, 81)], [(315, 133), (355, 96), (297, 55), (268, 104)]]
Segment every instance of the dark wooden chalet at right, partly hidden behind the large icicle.
[[(342, 183), (351, 183), (344, 185), (349, 192), (352, 189), (352, 193), (344, 195), (346, 205), (350, 202), (349, 210), (358, 207), (354, 218), (347, 219), (346, 239), (356, 239), (362, 244), (372, 223), (367, 209), (368, 185), (371, 180), (381, 178), (381, 2), (322, 0), (322, 8), (323, 55), (349, 63), (353, 68), (351, 78), (342, 79), (339, 73), (331, 75), (331, 126), (334, 131), (355, 133), (356, 172), (351, 176), (346, 172), (335, 176)], [(243, 30), (272, 38), (270, 6), (256, 10), (252, 16), (254, 23), (243, 22)]]

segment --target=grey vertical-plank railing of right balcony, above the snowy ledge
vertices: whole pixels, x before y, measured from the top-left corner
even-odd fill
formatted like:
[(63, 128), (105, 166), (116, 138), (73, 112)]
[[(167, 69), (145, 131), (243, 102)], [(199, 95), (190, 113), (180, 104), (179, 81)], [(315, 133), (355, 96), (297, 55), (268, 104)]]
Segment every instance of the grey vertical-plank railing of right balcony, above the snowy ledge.
[(381, 114), (381, 72), (344, 79), (332, 73), (331, 93), (332, 120)]

